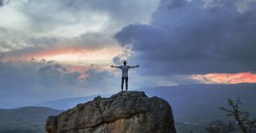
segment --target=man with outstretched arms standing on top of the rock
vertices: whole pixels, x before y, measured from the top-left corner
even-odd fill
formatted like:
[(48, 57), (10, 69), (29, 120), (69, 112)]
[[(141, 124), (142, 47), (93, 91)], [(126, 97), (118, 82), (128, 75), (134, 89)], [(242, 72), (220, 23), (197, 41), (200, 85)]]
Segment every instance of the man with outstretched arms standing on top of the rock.
[[(110, 67), (115, 67), (115, 66), (111, 65)], [(140, 66), (137, 65), (135, 67), (140, 67)], [(125, 80), (126, 90), (128, 90), (128, 70), (129, 70), (129, 68), (135, 68), (135, 67), (126, 66), (126, 61), (124, 61), (124, 66), (115, 67), (115, 68), (120, 68), (122, 70), (122, 84), (121, 84), (122, 91), (123, 91), (123, 86), (124, 86), (124, 80)]]

